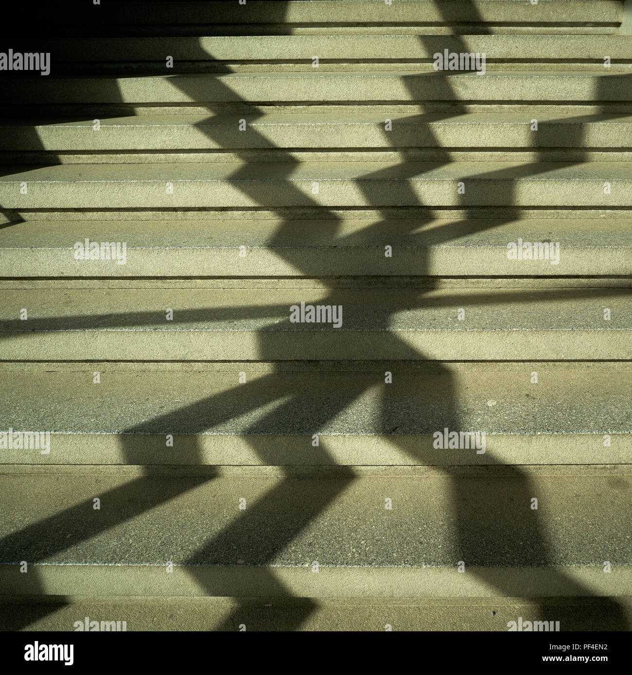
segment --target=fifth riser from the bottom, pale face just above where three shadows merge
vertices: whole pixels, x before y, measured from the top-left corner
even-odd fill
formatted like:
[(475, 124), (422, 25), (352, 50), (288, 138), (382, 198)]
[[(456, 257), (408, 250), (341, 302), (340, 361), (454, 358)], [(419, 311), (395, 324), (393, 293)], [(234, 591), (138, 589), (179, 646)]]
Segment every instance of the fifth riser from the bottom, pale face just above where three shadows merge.
[[(177, 171), (174, 171), (175, 175)], [(316, 177), (315, 177), (316, 178)], [(20, 195), (20, 182), (0, 185), (0, 198), (8, 209), (134, 209), (139, 202), (146, 208), (243, 208), (261, 207), (415, 207), (418, 205), (441, 207), (505, 206), (573, 207), (581, 195), (585, 207), (608, 209), (625, 207), (632, 191), (631, 180), (612, 180), (611, 194), (604, 194), (604, 180), (556, 181), (539, 180), (476, 180), (469, 179), (470, 190), (457, 194), (457, 181), (369, 181), (318, 180), (318, 195), (311, 193), (312, 181), (278, 182), (253, 181), (240, 189), (239, 184), (228, 181), (183, 183), (174, 180), (174, 194), (165, 194), (166, 181), (93, 184), (78, 189), (76, 184), (37, 184), (30, 182), (28, 196)], [(467, 179), (466, 179), (467, 180)], [(452, 189), (445, 183), (451, 184)], [(358, 183), (362, 187), (358, 187)], [(245, 189), (247, 188), (247, 190)]]

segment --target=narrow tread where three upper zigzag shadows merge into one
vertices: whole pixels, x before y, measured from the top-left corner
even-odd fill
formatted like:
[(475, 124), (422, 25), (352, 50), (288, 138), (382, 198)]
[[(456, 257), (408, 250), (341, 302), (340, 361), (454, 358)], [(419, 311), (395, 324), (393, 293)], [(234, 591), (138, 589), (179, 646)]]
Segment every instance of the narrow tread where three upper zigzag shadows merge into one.
[[(632, 219), (225, 219), (24, 221), (0, 229), (0, 250), (74, 252), (74, 243), (125, 241), (131, 249), (169, 248), (418, 248), (507, 249), (508, 242), (560, 242), (566, 248), (629, 248)], [(97, 261), (94, 261), (97, 262)], [(395, 261), (393, 261), (395, 262)], [(560, 259), (560, 263), (561, 263)], [(518, 268), (516, 268), (518, 269)]]

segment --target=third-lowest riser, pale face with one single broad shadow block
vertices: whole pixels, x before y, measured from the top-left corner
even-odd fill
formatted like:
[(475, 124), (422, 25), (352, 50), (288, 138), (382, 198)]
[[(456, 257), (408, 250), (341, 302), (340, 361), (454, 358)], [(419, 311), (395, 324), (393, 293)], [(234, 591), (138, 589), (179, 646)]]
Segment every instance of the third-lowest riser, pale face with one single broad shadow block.
[(335, 335), (331, 331), (0, 331), (9, 360), (527, 360), (632, 359), (632, 330), (625, 331), (385, 331)]

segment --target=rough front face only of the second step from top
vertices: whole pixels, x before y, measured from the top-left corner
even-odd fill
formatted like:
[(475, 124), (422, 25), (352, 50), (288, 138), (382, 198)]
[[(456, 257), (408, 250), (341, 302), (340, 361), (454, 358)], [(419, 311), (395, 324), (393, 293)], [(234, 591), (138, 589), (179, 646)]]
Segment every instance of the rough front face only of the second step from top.
[[(401, 0), (399, 0), (401, 1)], [(461, 5), (462, 9), (465, 5)], [(539, 8), (537, 8), (539, 9)], [(243, 11), (243, 10), (242, 10)], [(389, 8), (389, 14), (392, 9)], [(525, 17), (533, 15), (527, 9)], [(312, 56), (319, 55), (322, 67), (329, 59), (352, 62), (372, 59), (384, 61), (433, 61), (437, 52), (449, 49), (456, 53), (485, 52), (488, 67), (490, 60), (523, 59), (534, 61), (541, 55), (547, 59), (579, 61), (579, 58), (598, 61), (603, 68), (604, 55), (612, 61), (630, 58), (629, 40), (612, 35), (245, 35), (213, 37), (118, 37), (73, 38), (39, 41), (41, 51), (49, 51), (55, 61), (160, 61), (164, 69), (164, 55), (170, 54), (177, 61), (260, 61), (268, 67), (278, 68), (278, 63), (303, 60), (312, 68)], [(222, 64), (223, 65), (223, 64)], [(347, 63), (342, 63), (341, 70)], [(538, 63), (541, 68), (543, 64)], [(208, 65), (206, 65), (208, 68)], [(225, 66), (224, 66), (225, 67)], [(249, 64), (249, 67), (252, 66)], [(366, 65), (364, 65), (366, 69)], [(415, 68), (412, 64), (411, 68)], [(514, 68), (514, 63), (505, 66)], [(531, 66), (533, 68), (533, 65)], [(560, 65), (558, 65), (560, 68)]]

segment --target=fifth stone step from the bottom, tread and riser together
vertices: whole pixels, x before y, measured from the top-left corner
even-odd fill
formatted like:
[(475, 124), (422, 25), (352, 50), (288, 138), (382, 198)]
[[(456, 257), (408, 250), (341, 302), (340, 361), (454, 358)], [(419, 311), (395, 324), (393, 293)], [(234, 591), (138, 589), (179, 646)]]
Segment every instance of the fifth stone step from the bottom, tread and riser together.
[(632, 163), (330, 162), (5, 167), (4, 209), (627, 207)]

